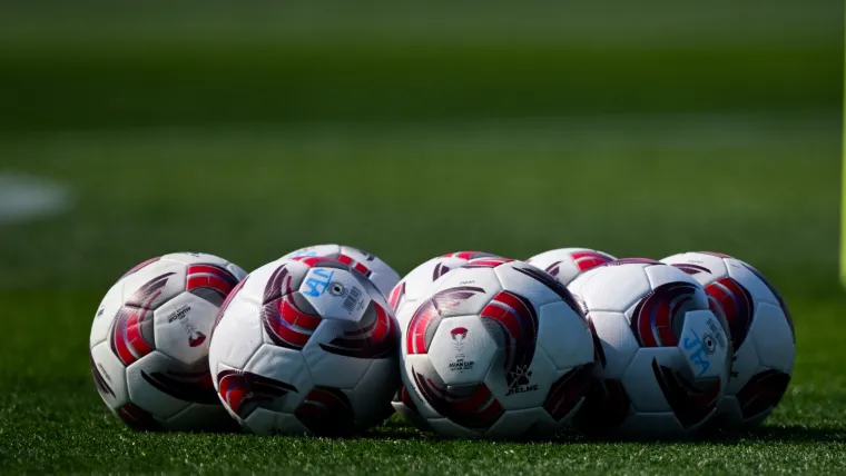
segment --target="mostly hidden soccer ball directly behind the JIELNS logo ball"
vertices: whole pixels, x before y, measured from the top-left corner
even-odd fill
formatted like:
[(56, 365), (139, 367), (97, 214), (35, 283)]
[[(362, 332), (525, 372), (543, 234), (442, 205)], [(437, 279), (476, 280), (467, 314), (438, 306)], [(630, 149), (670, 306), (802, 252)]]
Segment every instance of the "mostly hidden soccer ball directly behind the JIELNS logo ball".
[[(429, 261), (412, 269), (411, 272), (394, 286), (388, 295), (387, 303), (391, 308), (396, 313), (400, 329), (405, 329), (409, 324), (407, 319), (411, 318), (409, 313), (401, 314), (400, 309), (406, 306), (414, 306), (417, 300), (425, 295), (426, 288), (437, 280), (441, 276), (445, 275), (452, 269), (459, 268), (465, 265), (471, 259), (476, 258), (491, 258), (495, 255), (481, 251), (456, 251), (449, 252), (443, 256), (439, 256), (430, 259)], [(400, 319), (401, 316), (406, 318)], [(391, 405), (394, 410), (405, 418), (406, 422), (414, 424), (417, 427), (426, 428), (427, 425), (424, 418), (421, 418), (414, 408), (414, 403), (409, 395), (409, 390), (404, 386), (401, 386), (394, 395)]]

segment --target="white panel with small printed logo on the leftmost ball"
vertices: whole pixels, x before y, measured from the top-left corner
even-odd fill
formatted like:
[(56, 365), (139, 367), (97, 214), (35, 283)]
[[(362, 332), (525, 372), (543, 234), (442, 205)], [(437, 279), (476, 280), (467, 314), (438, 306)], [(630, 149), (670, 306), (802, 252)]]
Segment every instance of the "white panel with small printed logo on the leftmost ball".
[(185, 365), (208, 358), (217, 306), (183, 292), (154, 311), (156, 349)]

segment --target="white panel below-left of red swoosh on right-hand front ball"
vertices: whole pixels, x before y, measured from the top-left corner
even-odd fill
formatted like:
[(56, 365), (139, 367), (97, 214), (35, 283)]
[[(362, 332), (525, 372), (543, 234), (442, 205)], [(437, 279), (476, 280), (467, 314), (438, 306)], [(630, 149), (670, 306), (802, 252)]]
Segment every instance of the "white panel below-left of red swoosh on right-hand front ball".
[(591, 313), (597, 337), (602, 345), (606, 365), (598, 365), (593, 374), (599, 378), (619, 378), (629, 367), (640, 345), (629, 328), (629, 321), (621, 313)]

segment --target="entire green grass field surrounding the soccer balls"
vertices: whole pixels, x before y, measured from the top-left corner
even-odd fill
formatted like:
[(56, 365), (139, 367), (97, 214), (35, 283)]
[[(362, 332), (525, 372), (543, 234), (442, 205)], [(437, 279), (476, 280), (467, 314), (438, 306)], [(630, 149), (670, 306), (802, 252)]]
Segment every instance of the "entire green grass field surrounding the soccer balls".
[[(846, 473), (842, 1), (52, 3), (0, 11), (0, 187), (68, 197), (0, 214), (1, 473)], [(319, 242), (401, 274), (458, 249), (731, 254), (791, 308), (794, 379), (761, 428), (689, 442), (395, 417), (350, 439), (144, 434), (108, 413), (87, 343), (118, 276)]]

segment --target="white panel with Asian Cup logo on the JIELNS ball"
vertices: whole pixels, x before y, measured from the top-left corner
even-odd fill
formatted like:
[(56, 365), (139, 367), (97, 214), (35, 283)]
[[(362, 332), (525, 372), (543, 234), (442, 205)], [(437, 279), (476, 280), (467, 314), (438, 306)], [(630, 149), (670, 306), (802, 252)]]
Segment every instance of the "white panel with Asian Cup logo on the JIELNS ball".
[(479, 316), (455, 316), (437, 326), (427, 355), (446, 385), (479, 384), (499, 349)]

